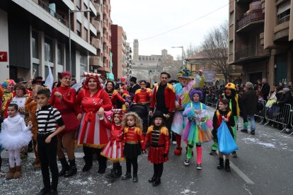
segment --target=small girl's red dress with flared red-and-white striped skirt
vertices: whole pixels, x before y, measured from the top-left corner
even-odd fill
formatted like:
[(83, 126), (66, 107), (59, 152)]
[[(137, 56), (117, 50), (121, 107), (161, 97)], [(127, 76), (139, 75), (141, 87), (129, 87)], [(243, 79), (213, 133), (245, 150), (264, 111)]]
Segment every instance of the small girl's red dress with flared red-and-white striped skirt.
[(121, 125), (105, 123), (102, 120), (102, 123), (106, 126), (107, 129), (111, 129), (110, 141), (103, 148), (100, 155), (105, 156), (111, 162), (121, 162), (125, 160), (123, 155), (123, 128)]

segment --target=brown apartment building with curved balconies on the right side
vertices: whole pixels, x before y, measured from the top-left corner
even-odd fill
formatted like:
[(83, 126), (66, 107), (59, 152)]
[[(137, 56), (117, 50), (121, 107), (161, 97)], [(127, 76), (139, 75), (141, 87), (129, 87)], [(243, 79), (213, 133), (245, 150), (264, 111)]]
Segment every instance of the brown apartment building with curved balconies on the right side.
[(229, 64), (243, 66), (243, 81), (292, 80), (290, 0), (237, 0), (229, 4)]

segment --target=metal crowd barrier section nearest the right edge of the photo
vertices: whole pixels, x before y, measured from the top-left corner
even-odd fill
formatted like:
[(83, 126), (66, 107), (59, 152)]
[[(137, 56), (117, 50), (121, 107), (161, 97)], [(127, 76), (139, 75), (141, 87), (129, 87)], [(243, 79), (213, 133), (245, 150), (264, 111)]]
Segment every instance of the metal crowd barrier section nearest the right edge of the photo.
[(265, 119), (267, 122), (263, 125), (267, 125), (269, 122), (275, 122), (282, 125), (282, 131), (285, 131), (287, 125), (289, 124), (289, 119), (291, 117), (291, 105), (272, 105), (272, 107), (265, 110)]

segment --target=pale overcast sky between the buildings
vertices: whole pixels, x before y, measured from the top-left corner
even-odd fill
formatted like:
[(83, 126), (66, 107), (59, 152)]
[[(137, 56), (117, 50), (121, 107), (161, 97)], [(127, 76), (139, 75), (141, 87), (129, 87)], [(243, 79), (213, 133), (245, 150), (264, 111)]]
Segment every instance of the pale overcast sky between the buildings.
[(174, 59), (182, 50), (171, 47), (200, 45), (209, 30), (229, 17), (229, 0), (110, 0), (110, 4), (113, 24), (122, 26), (131, 47), (134, 39), (139, 40), (139, 55), (167, 49)]

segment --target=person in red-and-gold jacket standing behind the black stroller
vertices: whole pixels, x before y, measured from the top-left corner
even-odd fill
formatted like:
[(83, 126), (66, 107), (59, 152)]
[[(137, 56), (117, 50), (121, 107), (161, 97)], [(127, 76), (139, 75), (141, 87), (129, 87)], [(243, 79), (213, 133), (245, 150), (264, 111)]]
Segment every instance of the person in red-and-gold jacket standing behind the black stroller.
[(146, 81), (142, 80), (139, 82), (140, 89), (134, 93), (134, 104), (149, 104), (151, 102), (151, 89), (146, 88)]

